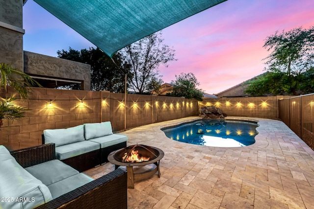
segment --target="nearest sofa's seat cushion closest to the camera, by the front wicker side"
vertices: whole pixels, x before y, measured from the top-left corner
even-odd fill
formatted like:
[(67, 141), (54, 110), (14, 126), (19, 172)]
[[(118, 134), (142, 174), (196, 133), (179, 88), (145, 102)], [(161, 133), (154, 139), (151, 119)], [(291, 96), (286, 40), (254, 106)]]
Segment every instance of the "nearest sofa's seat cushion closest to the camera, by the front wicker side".
[(84, 173), (78, 173), (74, 176), (63, 179), (59, 182), (55, 182), (49, 185), (48, 188), (51, 191), (52, 198), (55, 199), (93, 180), (94, 179), (92, 179), (91, 177), (87, 176)]

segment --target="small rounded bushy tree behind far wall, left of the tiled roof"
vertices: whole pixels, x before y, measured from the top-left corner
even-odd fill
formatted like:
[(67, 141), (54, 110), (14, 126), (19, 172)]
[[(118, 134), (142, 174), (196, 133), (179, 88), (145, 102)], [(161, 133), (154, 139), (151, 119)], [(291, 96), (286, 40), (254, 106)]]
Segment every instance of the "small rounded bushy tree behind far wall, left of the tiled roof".
[(167, 96), (184, 96), (187, 99), (195, 98), (198, 101), (203, 101), (204, 92), (196, 87), (200, 85), (195, 75), (192, 72), (181, 73), (176, 75), (176, 80), (171, 81), (173, 90), (171, 93), (167, 93)]

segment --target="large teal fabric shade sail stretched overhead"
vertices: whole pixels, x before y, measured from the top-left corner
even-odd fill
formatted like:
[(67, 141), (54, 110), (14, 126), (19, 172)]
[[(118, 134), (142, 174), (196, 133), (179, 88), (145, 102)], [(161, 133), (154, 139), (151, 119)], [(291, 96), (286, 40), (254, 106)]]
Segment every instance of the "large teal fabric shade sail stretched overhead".
[(226, 0), (34, 0), (108, 56)]

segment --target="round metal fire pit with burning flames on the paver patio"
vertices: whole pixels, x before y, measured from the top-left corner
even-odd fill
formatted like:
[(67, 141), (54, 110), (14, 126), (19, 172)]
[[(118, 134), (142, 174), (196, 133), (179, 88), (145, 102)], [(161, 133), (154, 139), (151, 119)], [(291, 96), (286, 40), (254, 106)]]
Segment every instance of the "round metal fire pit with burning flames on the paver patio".
[[(157, 147), (136, 144), (111, 152), (108, 156), (108, 161), (115, 165), (115, 169), (119, 166), (127, 167), (128, 188), (134, 188), (134, 181), (147, 179), (153, 176), (157, 171), (158, 177), (160, 178), (159, 161), (163, 156), (163, 151)], [(155, 168), (141, 173), (133, 172), (133, 167), (149, 164), (155, 164)]]

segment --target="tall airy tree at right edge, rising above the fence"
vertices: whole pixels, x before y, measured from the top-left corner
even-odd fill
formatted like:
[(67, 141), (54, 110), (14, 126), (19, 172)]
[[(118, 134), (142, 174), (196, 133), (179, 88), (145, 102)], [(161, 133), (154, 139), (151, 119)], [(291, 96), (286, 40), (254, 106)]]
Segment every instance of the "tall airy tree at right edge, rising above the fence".
[(264, 59), (268, 71), (284, 73), (287, 93), (297, 95), (300, 90), (301, 74), (314, 66), (314, 26), (309, 29), (298, 27), (266, 38), (264, 46), (272, 52)]

